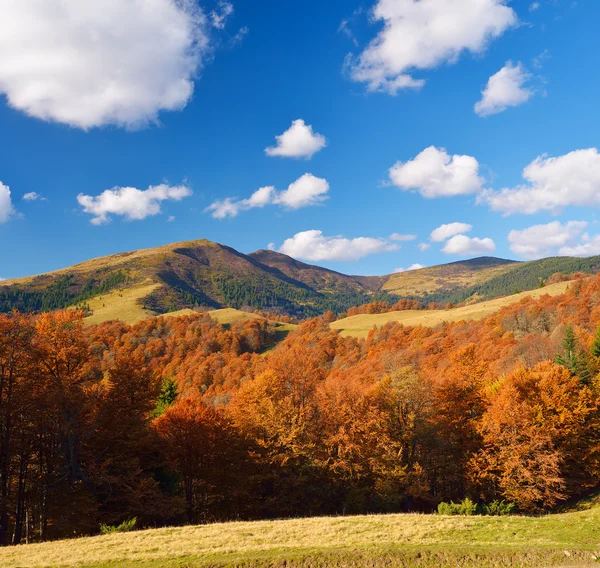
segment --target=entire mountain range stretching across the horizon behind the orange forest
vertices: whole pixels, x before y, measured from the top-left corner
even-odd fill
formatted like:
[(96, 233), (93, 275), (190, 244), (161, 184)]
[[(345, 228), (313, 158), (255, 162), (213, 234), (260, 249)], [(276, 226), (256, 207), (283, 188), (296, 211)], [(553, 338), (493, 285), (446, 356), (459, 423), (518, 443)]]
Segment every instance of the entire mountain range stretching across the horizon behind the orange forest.
[[(309, 317), (375, 300), (473, 301), (531, 290), (554, 273), (595, 273), (600, 257), (516, 262), (493, 257), (384, 276), (351, 276), (260, 250), (242, 254), (207, 240), (114, 254), (4, 281), (0, 312), (82, 305), (131, 319), (182, 309), (253, 308)], [(114, 309), (113, 309), (114, 308)], [(137, 310), (137, 311), (136, 311)], [(100, 318), (100, 316), (98, 316)], [(104, 316), (102, 316), (104, 317)]]

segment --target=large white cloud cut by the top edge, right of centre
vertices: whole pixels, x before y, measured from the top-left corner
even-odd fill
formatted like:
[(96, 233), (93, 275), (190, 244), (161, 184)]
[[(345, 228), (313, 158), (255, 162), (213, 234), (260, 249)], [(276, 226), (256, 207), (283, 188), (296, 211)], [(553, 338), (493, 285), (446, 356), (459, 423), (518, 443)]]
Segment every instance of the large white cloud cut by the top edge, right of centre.
[(356, 59), (351, 77), (371, 91), (396, 94), (419, 88), (416, 70), (455, 63), (469, 51), (481, 53), (488, 42), (517, 23), (506, 0), (378, 0), (372, 19), (383, 30)]

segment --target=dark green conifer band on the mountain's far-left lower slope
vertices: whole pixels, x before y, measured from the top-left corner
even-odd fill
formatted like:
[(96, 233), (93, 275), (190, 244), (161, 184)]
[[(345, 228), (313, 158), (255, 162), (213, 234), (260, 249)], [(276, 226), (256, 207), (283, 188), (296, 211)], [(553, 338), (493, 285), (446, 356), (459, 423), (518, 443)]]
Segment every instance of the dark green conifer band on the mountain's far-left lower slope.
[(105, 277), (65, 274), (43, 287), (35, 281), (24, 287), (0, 285), (0, 313), (49, 312), (77, 306), (128, 281), (128, 274), (119, 270)]

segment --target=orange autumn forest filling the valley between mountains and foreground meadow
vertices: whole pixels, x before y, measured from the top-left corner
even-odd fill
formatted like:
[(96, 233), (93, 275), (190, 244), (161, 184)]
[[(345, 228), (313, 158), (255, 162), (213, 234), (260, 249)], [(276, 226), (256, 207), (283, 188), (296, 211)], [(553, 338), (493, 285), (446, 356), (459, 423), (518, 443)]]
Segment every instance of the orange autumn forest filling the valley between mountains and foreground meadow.
[(85, 326), (0, 315), (0, 544), (137, 527), (522, 513), (598, 485), (600, 277), (478, 322), (225, 327), (204, 314)]

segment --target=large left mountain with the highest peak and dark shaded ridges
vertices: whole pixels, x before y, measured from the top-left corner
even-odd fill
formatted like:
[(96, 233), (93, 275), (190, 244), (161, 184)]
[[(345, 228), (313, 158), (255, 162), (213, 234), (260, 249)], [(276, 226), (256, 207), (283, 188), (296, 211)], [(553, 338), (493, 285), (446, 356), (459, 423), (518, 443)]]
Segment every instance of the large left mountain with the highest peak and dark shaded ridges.
[(344, 311), (374, 297), (373, 290), (352, 277), (280, 253), (245, 255), (198, 240), (97, 258), (3, 282), (0, 311), (85, 305), (114, 290), (152, 285), (138, 303), (154, 314), (185, 308), (251, 307), (305, 317)]

